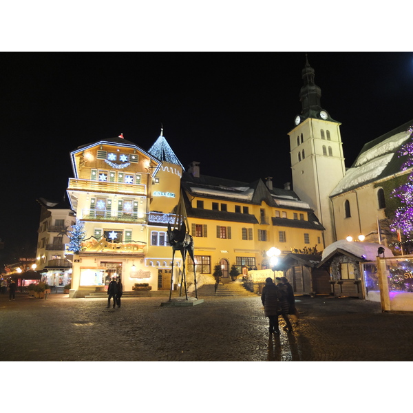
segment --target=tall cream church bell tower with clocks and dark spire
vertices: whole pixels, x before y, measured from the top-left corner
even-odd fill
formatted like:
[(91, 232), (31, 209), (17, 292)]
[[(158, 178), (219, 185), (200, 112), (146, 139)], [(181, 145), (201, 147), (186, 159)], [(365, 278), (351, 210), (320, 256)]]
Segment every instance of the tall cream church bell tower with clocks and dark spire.
[[(330, 193), (346, 173), (340, 125), (321, 107), (321, 88), (308, 63), (302, 70), (301, 113), (289, 132), (293, 190), (308, 202), (326, 231), (324, 246), (336, 241)], [(321, 246), (321, 247), (324, 247)]]

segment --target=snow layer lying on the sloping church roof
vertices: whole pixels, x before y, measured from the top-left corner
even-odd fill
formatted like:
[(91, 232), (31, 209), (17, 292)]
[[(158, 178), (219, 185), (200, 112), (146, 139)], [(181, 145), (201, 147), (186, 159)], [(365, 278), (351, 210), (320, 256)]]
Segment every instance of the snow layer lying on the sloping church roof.
[[(340, 180), (330, 195), (334, 196), (346, 192), (349, 189), (360, 187), (363, 184), (379, 178), (390, 165), (390, 162), (397, 157), (397, 151), (399, 151), (400, 147), (410, 138), (411, 133), (412, 130), (410, 128), (407, 130), (404, 129), (403, 131), (399, 131), (399, 133), (392, 134), (389, 138), (385, 138), (384, 136), (385, 139), (374, 146), (368, 147), (374, 143), (374, 141), (366, 144), (365, 147), (367, 146), (368, 149), (362, 150), (361, 153), (359, 153), (352, 167), (346, 171), (346, 175)], [(388, 173), (388, 175), (399, 171), (400, 169), (397, 171), (389, 171), (391, 173)], [(381, 178), (384, 178), (384, 176)]]

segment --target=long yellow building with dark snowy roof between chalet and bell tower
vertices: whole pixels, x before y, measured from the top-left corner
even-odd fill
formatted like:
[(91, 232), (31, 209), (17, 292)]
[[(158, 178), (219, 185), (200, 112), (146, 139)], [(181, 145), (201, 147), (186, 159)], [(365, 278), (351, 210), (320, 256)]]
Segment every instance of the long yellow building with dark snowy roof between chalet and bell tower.
[(246, 183), (204, 176), (199, 162), (192, 162), (182, 189), (197, 273), (212, 274), (219, 264), (228, 279), (233, 265), (240, 273), (271, 268), (266, 252), (272, 247), (280, 257), (292, 248), (324, 249), (324, 227), (288, 184), (277, 189), (271, 178)]

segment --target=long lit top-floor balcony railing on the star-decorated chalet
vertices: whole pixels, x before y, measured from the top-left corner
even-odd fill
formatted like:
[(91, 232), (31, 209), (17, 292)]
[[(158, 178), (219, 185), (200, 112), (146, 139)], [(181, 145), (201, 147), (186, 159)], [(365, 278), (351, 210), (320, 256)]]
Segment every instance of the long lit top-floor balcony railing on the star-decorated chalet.
[(123, 182), (101, 182), (87, 179), (69, 179), (69, 190), (120, 193), (127, 195), (147, 195), (145, 184), (124, 184)]

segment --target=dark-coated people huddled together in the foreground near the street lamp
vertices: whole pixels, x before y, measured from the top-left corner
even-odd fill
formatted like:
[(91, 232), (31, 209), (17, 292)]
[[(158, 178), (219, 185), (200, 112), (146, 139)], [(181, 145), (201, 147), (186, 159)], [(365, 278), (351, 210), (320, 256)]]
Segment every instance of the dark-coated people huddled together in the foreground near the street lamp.
[(264, 306), (264, 314), (270, 321), (270, 334), (275, 332), (275, 334), (279, 335), (279, 315), (282, 316), (286, 323), (286, 330), (293, 332), (293, 326), (291, 326), (288, 319), (290, 306), (287, 299), (287, 287), (282, 282), (275, 285), (271, 277), (268, 277), (265, 282), (266, 284), (262, 288), (261, 301)]

